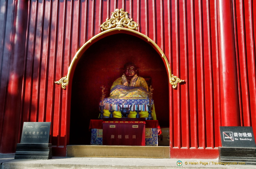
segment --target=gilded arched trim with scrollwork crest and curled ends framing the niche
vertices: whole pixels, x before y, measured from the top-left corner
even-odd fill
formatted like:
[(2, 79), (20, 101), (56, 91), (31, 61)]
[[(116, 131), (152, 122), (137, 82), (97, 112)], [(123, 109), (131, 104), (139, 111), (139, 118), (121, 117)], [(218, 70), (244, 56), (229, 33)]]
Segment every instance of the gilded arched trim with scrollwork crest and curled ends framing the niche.
[[(121, 13), (123, 12), (123, 9), (120, 9), (121, 10)], [(116, 12), (119, 12), (118, 9), (116, 9)], [(125, 14), (115, 14), (115, 13), (112, 13), (112, 16), (115, 15), (115, 16), (118, 16), (118, 15), (122, 15), (121, 18), (125, 18), (126, 15), (127, 15), (127, 12), (124, 12)], [(125, 16), (123, 16), (125, 15)], [(127, 15), (128, 17), (128, 15)], [(119, 17), (118, 17), (119, 18)], [(108, 19), (107, 19), (108, 20)], [(118, 20), (118, 19), (117, 19)], [(129, 20), (131, 21), (131, 20)], [(107, 21), (106, 21), (107, 22)], [(117, 21), (111, 21), (112, 23), (117, 23)], [(118, 20), (119, 23), (121, 23), (120, 20)], [(124, 22), (124, 21), (122, 21)], [(126, 21), (125, 21), (126, 22)], [(133, 21), (134, 22), (134, 21)], [(104, 22), (105, 23), (105, 22)], [(104, 25), (104, 23), (102, 25)], [(136, 23), (136, 22), (134, 22)], [(109, 27), (109, 26), (108, 26)], [(56, 81), (54, 83), (60, 85), (61, 84), (61, 87), (62, 89), (66, 89), (66, 86), (69, 84), (69, 76), (70, 76), (70, 73), (71, 73), (71, 70), (73, 68), (73, 65), (76, 61), (76, 59), (78, 58), (78, 56), (81, 56), (83, 53), (84, 53), (84, 50), (83, 48), (85, 48), (86, 45), (90, 44), (94, 39), (97, 39), (99, 36), (103, 35), (103, 34), (106, 34), (106, 33), (110, 33), (112, 31), (129, 31), (129, 32), (132, 32), (133, 34), (137, 34), (141, 37), (143, 37), (144, 39), (146, 39), (148, 41), (148, 43), (151, 43), (152, 46), (158, 51), (158, 53), (160, 53), (160, 55), (162, 56), (162, 58), (164, 59), (165, 61), (165, 65), (167, 67), (167, 72), (168, 72), (168, 77), (169, 77), (169, 83), (172, 85), (172, 87), (175, 89), (177, 87), (177, 84), (178, 83), (181, 83), (181, 82), (184, 82), (184, 80), (181, 80), (180, 78), (178, 78), (177, 76), (175, 75), (172, 75), (171, 73), (171, 68), (170, 68), (170, 64), (164, 54), (164, 52), (161, 50), (161, 48), (152, 40), (150, 39), (148, 36), (138, 32), (138, 31), (135, 31), (133, 29), (127, 29), (127, 28), (124, 28), (122, 25), (117, 25), (116, 27), (114, 28), (111, 28), (113, 26), (110, 26), (108, 29), (106, 29), (105, 31), (99, 33), (98, 35), (95, 35), (93, 36), (89, 41), (87, 41), (78, 51), (77, 53), (75, 54), (75, 56), (73, 57), (70, 65), (69, 65), (69, 70), (68, 70), (68, 74), (67, 76), (64, 76), (62, 77), (59, 81)], [(111, 28), (111, 29), (110, 29)], [(101, 30), (104, 29), (103, 27), (101, 28)], [(136, 28), (135, 28), (136, 29)], [(137, 29), (136, 29), (137, 30)]]

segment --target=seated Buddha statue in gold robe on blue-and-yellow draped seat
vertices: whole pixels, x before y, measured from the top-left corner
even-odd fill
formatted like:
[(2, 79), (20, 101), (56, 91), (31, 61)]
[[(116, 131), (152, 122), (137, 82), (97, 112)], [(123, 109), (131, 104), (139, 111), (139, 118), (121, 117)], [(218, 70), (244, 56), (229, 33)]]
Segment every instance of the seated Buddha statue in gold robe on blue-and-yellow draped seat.
[[(103, 100), (104, 117), (109, 117), (109, 110), (114, 110), (113, 116), (121, 118), (121, 107), (131, 107), (129, 118), (135, 118), (135, 110), (141, 110), (140, 117), (148, 117), (148, 104), (153, 105), (152, 116), (156, 120), (154, 101), (149, 101), (148, 85), (143, 77), (137, 75), (138, 69), (135, 64), (127, 63), (123, 68), (123, 75), (116, 79), (111, 87), (110, 96)], [(150, 103), (151, 102), (151, 103)]]

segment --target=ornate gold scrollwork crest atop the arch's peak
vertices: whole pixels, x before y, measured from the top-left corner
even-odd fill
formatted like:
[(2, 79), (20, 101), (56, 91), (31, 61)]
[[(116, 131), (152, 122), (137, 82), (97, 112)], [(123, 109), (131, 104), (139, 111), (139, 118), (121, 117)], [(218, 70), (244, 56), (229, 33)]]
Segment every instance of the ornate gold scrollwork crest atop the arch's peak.
[(111, 19), (107, 18), (106, 22), (101, 25), (101, 30), (108, 30), (112, 27), (128, 27), (129, 29), (138, 30), (138, 24), (129, 19), (128, 12), (124, 12), (124, 9), (116, 9), (115, 12), (112, 12)]

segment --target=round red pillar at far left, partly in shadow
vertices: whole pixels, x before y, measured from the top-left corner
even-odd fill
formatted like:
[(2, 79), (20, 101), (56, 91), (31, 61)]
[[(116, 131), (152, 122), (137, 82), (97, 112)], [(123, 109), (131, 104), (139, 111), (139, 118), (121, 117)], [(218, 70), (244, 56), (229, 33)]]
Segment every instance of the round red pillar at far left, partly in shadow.
[[(7, 13), (10, 18), (10, 21), (7, 23), (5, 34), (7, 33), (8, 37), (5, 37), (5, 47), (8, 57), (7, 70), (5, 70), (6, 76), (2, 76), (4, 83), (7, 82), (4, 90), (6, 93), (5, 98), (5, 112), (1, 112), (1, 116), (4, 116), (3, 123), (3, 133), (1, 134), (1, 153), (12, 153), (15, 152), (15, 145), (18, 143), (20, 131), (20, 109), (21, 109), (21, 89), (22, 86), (22, 76), (25, 65), (25, 42), (26, 42), (26, 27), (20, 27), (23, 23), (27, 23), (27, 15), (24, 11), (27, 11), (27, 1), (13, 1), (8, 4), (10, 7), (9, 10), (12, 13), (11, 15)], [(10, 25), (9, 25), (10, 24)], [(10, 51), (10, 52), (9, 52)], [(2, 56), (1, 56), (2, 57)], [(6, 60), (3, 58), (3, 63)], [(5, 66), (4, 66), (5, 67)], [(2, 69), (3, 71), (3, 69)], [(2, 73), (2, 72), (1, 72)], [(9, 76), (9, 77), (8, 77)], [(2, 80), (2, 79), (1, 79)], [(5, 81), (7, 80), (7, 81)], [(2, 84), (1, 84), (2, 85)], [(1, 91), (2, 88), (1, 88)], [(2, 128), (2, 127), (1, 127)]]

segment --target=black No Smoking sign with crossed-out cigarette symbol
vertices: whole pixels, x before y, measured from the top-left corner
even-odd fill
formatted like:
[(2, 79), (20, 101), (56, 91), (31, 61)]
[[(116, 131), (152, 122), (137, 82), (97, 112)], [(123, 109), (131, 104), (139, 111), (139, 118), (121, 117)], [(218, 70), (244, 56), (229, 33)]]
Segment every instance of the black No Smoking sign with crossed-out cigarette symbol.
[(252, 127), (221, 126), (222, 147), (256, 147)]

